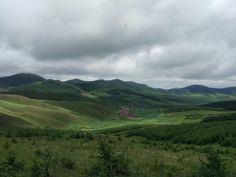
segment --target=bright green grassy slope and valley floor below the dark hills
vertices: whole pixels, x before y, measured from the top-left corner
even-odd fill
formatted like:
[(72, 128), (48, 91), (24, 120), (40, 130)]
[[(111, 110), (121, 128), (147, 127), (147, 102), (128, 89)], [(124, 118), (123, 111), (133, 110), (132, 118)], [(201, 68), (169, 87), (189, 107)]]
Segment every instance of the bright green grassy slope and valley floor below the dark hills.
[[(156, 108), (133, 108), (132, 111), (135, 112), (135, 118), (126, 120), (116, 116), (116, 108), (112, 105), (96, 100), (43, 101), (23, 96), (0, 95), (0, 113), (14, 117), (9, 119), (9, 126), (12, 124), (10, 122), (19, 119), (27, 122), (27, 126), (31, 124), (59, 129), (107, 129), (127, 125), (195, 123), (205, 117), (235, 112), (202, 108), (179, 112)], [(4, 121), (7, 125), (6, 118)]]

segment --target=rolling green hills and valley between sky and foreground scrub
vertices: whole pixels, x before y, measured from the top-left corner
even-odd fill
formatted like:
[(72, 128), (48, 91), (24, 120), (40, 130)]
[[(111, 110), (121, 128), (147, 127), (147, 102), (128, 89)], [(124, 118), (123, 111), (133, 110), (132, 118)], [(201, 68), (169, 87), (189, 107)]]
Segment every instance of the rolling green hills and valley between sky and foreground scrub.
[[(34, 74), (0, 78), (0, 88), (3, 127), (103, 129), (199, 122), (225, 111), (234, 113), (235, 107), (230, 110), (218, 107), (230, 107), (236, 100), (235, 87), (192, 85), (164, 90), (118, 79), (62, 82)], [(124, 106), (130, 109), (132, 119), (117, 114)]]

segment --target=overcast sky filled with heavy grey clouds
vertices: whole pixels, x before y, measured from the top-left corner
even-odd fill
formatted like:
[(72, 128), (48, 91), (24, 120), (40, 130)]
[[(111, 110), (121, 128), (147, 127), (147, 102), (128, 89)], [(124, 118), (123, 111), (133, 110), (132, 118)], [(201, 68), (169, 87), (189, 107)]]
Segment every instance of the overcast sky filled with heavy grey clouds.
[(0, 0), (0, 76), (236, 85), (235, 0)]

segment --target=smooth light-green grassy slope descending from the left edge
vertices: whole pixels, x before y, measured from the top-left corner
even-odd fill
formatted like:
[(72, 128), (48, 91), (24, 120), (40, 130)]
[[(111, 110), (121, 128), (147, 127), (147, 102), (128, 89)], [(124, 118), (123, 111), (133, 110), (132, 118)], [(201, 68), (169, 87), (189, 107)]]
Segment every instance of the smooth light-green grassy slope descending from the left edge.
[[(76, 128), (85, 125), (85, 118), (40, 100), (22, 96), (0, 95), (0, 113), (25, 121), (32, 126)], [(9, 124), (10, 126), (10, 124)], [(76, 127), (74, 127), (76, 126)]]

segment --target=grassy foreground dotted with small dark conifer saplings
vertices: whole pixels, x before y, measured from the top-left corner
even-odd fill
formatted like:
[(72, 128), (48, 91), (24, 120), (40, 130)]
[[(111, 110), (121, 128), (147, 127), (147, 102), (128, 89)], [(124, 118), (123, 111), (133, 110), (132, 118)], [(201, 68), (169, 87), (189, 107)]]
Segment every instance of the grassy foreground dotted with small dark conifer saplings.
[(122, 133), (16, 129), (1, 132), (0, 164), (1, 177), (234, 177), (236, 149)]

